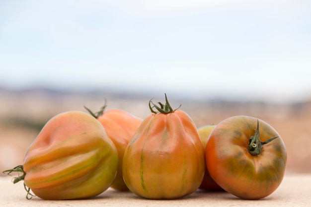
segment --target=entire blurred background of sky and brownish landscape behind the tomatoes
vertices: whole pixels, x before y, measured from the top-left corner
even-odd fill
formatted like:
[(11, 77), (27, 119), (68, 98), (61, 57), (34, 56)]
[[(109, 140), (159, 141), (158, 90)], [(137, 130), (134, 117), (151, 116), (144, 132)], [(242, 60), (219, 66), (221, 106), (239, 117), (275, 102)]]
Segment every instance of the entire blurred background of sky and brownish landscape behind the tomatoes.
[(311, 0), (1, 0), (0, 171), (69, 110), (262, 119), (311, 172)]

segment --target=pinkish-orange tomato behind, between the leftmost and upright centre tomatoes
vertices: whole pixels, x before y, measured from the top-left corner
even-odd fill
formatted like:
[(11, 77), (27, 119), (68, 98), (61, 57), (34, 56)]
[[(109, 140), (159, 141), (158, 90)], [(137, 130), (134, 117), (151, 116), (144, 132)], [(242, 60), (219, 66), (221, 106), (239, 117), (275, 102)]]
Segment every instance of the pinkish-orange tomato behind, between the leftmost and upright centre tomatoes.
[(104, 111), (106, 104), (96, 114), (90, 112), (105, 128), (108, 137), (112, 140), (118, 150), (119, 163), (118, 172), (111, 188), (119, 191), (127, 191), (122, 174), (123, 155), (129, 141), (133, 138), (143, 119), (138, 118), (120, 109), (109, 109)]

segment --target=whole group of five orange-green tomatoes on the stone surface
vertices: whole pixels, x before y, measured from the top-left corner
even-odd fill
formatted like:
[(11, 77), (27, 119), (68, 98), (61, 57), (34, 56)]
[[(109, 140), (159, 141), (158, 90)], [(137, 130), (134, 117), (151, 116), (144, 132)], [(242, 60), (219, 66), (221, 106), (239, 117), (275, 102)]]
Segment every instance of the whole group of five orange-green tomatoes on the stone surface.
[[(149, 102), (144, 120), (104, 107), (70, 111), (46, 123), (25, 153), (27, 198), (85, 199), (109, 187), (148, 199), (175, 199), (198, 189), (242, 199), (273, 193), (284, 177), (286, 148), (262, 120), (235, 116), (197, 129), (182, 110)], [(259, 138), (260, 132), (260, 138)], [(31, 191), (30, 191), (31, 189)]]

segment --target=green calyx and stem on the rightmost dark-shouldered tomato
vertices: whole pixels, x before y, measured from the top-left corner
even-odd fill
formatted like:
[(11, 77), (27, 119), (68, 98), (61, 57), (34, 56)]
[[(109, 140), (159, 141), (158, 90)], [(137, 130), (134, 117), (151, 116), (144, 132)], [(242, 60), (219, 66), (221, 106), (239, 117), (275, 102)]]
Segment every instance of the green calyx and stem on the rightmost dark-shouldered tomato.
[(269, 143), (275, 138), (278, 138), (278, 136), (262, 142), (259, 138), (259, 121), (257, 120), (257, 129), (255, 130), (255, 135), (249, 138), (249, 144), (246, 149), (253, 156), (259, 155), (261, 153), (263, 145)]

